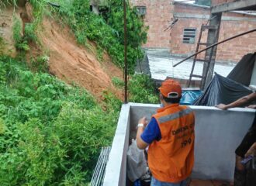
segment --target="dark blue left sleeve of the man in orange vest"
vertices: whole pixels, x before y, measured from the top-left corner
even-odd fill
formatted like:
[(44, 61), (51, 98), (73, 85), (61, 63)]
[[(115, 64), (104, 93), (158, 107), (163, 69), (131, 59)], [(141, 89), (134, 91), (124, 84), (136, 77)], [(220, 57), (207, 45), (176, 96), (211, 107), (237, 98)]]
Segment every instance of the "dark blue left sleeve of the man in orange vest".
[(147, 144), (152, 143), (154, 140), (161, 140), (161, 132), (155, 118), (151, 118), (140, 137)]

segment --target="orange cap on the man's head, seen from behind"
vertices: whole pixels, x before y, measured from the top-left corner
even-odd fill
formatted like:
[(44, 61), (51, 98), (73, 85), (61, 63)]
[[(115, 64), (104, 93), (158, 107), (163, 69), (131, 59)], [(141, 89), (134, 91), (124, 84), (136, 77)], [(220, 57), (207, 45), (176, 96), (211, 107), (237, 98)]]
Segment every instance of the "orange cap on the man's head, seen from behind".
[(162, 82), (161, 87), (158, 88), (161, 94), (166, 98), (179, 98), (182, 96), (182, 87), (178, 81), (166, 79)]

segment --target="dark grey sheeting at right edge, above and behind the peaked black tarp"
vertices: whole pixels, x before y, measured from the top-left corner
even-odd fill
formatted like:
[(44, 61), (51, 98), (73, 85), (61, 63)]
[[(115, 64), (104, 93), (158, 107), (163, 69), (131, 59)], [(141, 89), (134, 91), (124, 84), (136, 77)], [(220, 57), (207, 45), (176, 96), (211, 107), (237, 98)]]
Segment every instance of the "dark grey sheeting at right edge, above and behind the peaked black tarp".
[(254, 69), (254, 62), (256, 58), (256, 53), (246, 54), (234, 67), (234, 69), (227, 75), (228, 78), (237, 81), (238, 83), (244, 84), (246, 86), (250, 85), (251, 75)]

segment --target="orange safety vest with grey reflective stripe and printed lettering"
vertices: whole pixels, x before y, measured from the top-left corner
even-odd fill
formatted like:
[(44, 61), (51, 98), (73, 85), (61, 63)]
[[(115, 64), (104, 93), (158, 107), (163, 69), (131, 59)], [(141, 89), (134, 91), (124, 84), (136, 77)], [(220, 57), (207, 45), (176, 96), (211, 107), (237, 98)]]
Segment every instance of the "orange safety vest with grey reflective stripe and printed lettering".
[(171, 104), (153, 115), (161, 131), (148, 149), (148, 164), (158, 181), (177, 183), (185, 180), (194, 165), (195, 116), (192, 109)]

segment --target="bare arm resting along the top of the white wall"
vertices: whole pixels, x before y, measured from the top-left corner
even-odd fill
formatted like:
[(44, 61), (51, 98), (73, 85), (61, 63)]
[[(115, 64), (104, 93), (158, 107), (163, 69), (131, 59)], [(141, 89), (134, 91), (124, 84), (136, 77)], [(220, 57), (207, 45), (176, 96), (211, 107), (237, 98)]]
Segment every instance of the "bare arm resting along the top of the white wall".
[(226, 110), (227, 108), (234, 108), (234, 107), (239, 107), (241, 105), (245, 105), (249, 102), (252, 102), (256, 100), (256, 93), (251, 93), (250, 95), (247, 95), (247, 96), (244, 96), (240, 99), (237, 99), (237, 101), (235, 102), (232, 102), (228, 105), (225, 105), (225, 104), (219, 104), (219, 105), (216, 105), (217, 108), (220, 108), (220, 109), (223, 109), (223, 110)]

